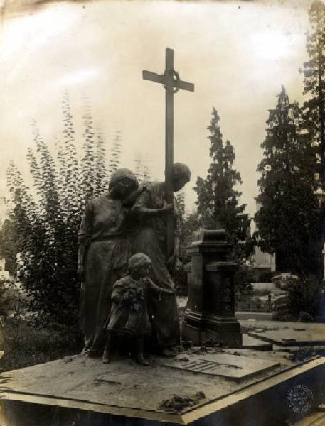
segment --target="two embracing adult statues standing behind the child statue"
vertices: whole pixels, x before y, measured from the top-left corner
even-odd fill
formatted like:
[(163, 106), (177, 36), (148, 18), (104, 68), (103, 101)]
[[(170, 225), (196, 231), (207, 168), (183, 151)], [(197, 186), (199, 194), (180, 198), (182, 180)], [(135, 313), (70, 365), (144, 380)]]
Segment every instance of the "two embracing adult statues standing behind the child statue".
[[(181, 190), (189, 180), (188, 167), (175, 163), (174, 192)], [(82, 281), (83, 353), (89, 356), (103, 353), (113, 285), (126, 275), (129, 258), (134, 252), (149, 256), (149, 277), (161, 290), (147, 295), (148, 317), (159, 351), (164, 356), (172, 356), (180, 344), (174, 281), (169, 273), (179, 256), (180, 215), (176, 199), (174, 204), (166, 202), (165, 182), (144, 182), (138, 186), (130, 170), (116, 170), (110, 179), (109, 192), (90, 200), (85, 208), (78, 235), (78, 275)], [(166, 217), (170, 212), (174, 212), (175, 248), (174, 256), (166, 260)], [(116, 324), (112, 329), (115, 328)]]

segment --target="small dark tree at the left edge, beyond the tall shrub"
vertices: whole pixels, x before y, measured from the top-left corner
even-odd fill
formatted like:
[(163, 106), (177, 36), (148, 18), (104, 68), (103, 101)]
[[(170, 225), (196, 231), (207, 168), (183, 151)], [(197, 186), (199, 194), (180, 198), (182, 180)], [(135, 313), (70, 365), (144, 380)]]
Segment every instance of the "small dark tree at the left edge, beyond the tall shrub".
[(16, 275), (16, 231), (10, 219), (5, 219), (0, 229), (0, 258), (6, 261), (6, 271)]

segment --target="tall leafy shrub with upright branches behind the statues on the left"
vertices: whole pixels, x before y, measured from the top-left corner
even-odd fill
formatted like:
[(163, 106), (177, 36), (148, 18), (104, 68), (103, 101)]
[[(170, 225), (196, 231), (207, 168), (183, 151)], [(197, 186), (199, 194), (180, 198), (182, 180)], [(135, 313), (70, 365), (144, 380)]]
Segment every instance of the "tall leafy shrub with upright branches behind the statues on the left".
[(75, 148), (73, 116), (68, 94), (63, 97), (63, 138), (55, 156), (36, 124), (36, 152), (28, 151), (33, 177), (32, 197), (20, 171), (11, 163), (7, 181), (11, 192), (10, 219), (21, 253), (19, 277), (29, 295), (29, 308), (39, 322), (75, 324), (78, 317), (78, 229), (85, 202), (107, 189), (105, 149), (96, 136), (89, 104), (83, 116), (84, 155)]

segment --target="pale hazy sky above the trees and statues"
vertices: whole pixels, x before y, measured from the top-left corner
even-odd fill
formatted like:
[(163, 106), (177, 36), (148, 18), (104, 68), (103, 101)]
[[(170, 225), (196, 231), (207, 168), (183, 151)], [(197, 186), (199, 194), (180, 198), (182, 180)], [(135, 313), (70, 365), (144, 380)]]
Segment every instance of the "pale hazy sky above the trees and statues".
[(267, 109), (281, 84), (291, 100), (302, 101), (310, 1), (60, 1), (14, 12), (14, 0), (1, 4), (0, 196), (7, 195), (10, 160), (28, 177), (33, 119), (53, 149), (62, 137), (65, 91), (77, 124), (83, 97), (90, 99), (107, 148), (122, 131), (122, 165), (134, 168), (134, 156), (142, 155), (154, 178), (163, 179), (164, 88), (142, 80), (142, 70), (162, 73), (169, 47), (181, 79), (195, 84), (194, 93), (176, 94), (174, 107), (174, 159), (193, 173), (187, 206), (210, 163), (206, 127), (215, 106), (224, 140), (235, 147), (242, 202), (255, 213)]

